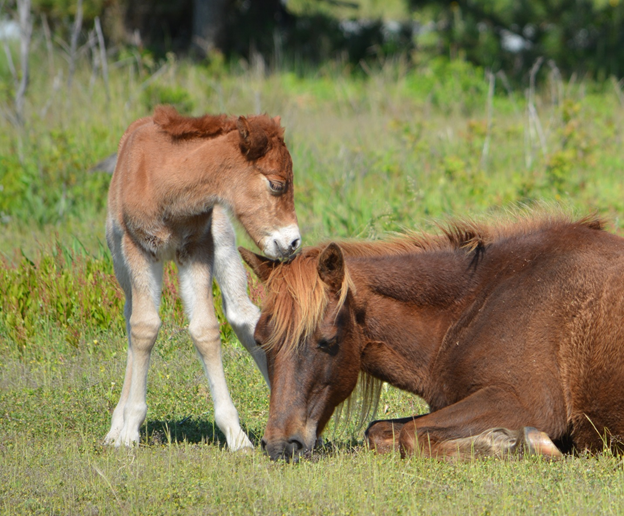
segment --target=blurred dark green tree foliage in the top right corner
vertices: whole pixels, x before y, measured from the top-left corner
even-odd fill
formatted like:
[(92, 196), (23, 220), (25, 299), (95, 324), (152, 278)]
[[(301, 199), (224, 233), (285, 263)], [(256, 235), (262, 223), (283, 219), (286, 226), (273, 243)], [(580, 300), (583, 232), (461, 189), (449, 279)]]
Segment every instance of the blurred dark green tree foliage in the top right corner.
[[(482, 66), (526, 72), (543, 56), (568, 72), (596, 78), (624, 73), (621, 0), (410, 0), (427, 13), (435, 53)], [(422, 34), (421, 49), (427, 40)]]

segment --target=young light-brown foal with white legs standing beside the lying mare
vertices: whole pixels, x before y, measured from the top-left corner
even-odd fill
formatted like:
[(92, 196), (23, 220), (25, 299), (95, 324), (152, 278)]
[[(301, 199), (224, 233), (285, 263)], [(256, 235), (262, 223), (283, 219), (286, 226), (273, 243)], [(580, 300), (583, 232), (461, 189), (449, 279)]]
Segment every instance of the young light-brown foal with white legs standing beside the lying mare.
[(106, 221), (115, 275), (126, 295), (128, 331), (126, 375), (107, 444), (139, 441), (147, 414), (150, 352), (161, 324), (163, 266), (174, 260), (217, 426), (230, 449), (252, 446), (225, 382), (213, 274), (227, 320), (267, 383), (268, 374), (253, 338), (259, 311), (247, 297), (245, 270), (225, 208), (267, 256), (288, 257), (299, 247), (292, 160), (279, 117), (190, 118), (160, 106), (154, 116), (130, 125), (119, 143)]

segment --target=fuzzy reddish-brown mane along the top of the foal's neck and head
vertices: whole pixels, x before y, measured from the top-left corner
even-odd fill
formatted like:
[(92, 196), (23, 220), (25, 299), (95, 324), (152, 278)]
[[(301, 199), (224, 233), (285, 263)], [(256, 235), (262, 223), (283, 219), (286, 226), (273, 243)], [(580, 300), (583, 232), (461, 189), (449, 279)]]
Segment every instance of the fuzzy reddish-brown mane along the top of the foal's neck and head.
[[(233, 116), (182, 116), (173, 106), (156, 106), (152, 120), (174, 138), (215, 138), (237, 129)], [(268, 115), (250, 116), (247, 121), (252, 127), (262, 129), (268, 138), (284, 136), (284, 129)]]

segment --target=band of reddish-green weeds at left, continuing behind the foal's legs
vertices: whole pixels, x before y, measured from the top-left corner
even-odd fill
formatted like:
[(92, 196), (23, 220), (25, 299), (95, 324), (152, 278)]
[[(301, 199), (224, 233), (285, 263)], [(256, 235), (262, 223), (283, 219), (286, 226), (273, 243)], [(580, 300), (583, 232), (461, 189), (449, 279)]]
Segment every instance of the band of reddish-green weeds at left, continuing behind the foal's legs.
[[(221, 337), (232, 340), (234, 333), (223, 314), (216, 283), (213, 297)], [(0, 337), (23, 353), (45, 328), (76, 347), (84, 343), (85, 332), (124, 332), (124, 299), (104, 249), (92, 256), (74, 240), (72, 248), (56, 243), (51, 253), (35, 261), (25, 255), (14, 263), (4, 258), (0, 262)], [(161, 314), (175, 327), (185, 324), (171, 264), (165, 269)]]

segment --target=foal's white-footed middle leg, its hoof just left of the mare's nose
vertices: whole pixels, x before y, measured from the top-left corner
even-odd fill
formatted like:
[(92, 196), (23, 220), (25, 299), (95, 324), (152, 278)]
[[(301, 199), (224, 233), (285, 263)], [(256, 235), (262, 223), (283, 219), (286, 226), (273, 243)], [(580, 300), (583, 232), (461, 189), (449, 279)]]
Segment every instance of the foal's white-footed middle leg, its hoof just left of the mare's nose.
[(196, 252), (184, 263), (179, 263), (180, 294), (190, 320), (189, 333), (208, 377), (214, 403), (215, 422), (225, 434), (231, 450), (253, 448), (240, 427), (238, 412), (227, 388), (221, 361), (219, 322), (212, 299), (210, 252)]

